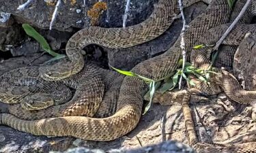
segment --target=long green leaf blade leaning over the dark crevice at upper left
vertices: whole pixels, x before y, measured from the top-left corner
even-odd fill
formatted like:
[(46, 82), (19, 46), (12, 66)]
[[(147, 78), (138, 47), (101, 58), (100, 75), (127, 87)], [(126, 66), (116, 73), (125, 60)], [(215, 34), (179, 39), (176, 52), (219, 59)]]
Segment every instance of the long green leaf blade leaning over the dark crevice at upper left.
[(55, 57), (61, 56), (61, 54), (58, 54), (58, 53), (54, 52), (53, 50), (51, 50), (51, 47), (47, 43), (46, 39), (44, 39), (44, 37), (42, 37), (42, 35), (40, 35), (40, 33), (38, 33), (37, 31), (35, 31), (35, 29), (33, 29), (33, 27), (31, 27), (29, 24), (24, 23), (23, 29), (25, 30), (27, 35), (29, 35), (30, 37), (33, 37), (33, 39), (38, 41), (38, 43), (42, 46), (42, 48), (46, 52), (48, 52), (49, 54), (51, 54), (52, 56), (55, 56)]

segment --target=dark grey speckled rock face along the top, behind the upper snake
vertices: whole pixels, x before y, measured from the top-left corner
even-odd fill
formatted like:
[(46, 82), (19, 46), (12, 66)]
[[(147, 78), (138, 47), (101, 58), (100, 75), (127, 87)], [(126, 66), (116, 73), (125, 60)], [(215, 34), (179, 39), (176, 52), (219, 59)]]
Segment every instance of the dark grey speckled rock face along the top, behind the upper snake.
[[(46, 3), (48, 2), (48, 3)], [(14, 16), (18, 22), (27, 22), (42, 29), (48, 29), (51, 16), (55, 10), (55, 1), (53, 3), (49, 1), (33, 1), (29, 3), (25, 10), (17, 10), (19, 5), (24, 2), (17, 3), (14, 0), (0, 1), (0, 11), (7, 12)], [(83, 1), (64, 1), (59, 6), (57, 20), (53, 24), (53, 29), (59, 31), (70, 31), (71, 27), (82, 29), (90, 25), (89, 17), (87, 16), (87, 10), (98, 1), (86, 1), (85, 5)], [(107, 10), (102, 14), (102, 18), (99, 20), (100, 27), (122, 27), (122, 15), (125, 10), (125, 1), (108, 1)], [(147, 16), (152, 12), (154, 1), (134, 1), (131, 3), (131, 10), (127, 20), (127, 26), (131, 24), (137, 24), (142, 20), (145, 20)], [(143, 13), (142, 13), (143, 12)], [(68, 18), (68, 20), (67, 20)]]

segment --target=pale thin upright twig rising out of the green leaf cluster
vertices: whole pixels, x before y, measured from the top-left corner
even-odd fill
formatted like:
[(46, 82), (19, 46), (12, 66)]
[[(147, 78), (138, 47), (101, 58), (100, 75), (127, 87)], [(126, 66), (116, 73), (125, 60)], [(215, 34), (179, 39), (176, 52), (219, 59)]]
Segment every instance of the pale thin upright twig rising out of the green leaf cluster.
[[(182, 31), (180, 33), (180, 37), (182, 37), (180, 41), (180, 48), (182, 48), (182, 73), (185, 68), (185, 63), (186, 63), (186, 50), (185, 50), (185, 41), (184, 41), (184, 33), (186, 31), (186, 20), (183, 12), (183, 6), (182, 6), (182, 0), (179, 0), (179, 7), (180, 7), (180, 14), (182, 15), (182, 22), (183, 22), (183, 27)], [(179, 89), (182, 88), (182, 75), (180, 76), (180, 82), (179, 82)]]

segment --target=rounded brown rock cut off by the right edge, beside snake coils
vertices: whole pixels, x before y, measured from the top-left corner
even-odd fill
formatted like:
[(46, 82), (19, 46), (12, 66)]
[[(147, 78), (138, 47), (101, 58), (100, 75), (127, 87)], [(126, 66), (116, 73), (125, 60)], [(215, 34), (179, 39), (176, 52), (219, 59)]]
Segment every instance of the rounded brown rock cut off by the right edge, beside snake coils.
[(256, 90), (256, 35), (246, 35), (233, 61), (233, 72), (245, 90)]

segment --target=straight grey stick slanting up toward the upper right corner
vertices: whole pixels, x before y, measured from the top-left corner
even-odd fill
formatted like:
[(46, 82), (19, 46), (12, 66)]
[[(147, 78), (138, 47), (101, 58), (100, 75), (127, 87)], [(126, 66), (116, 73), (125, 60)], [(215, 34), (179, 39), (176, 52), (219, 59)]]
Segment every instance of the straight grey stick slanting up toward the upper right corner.
[(233, 27), (235, 27), (236, 23), (240, 20), (240, 18), (242, 18), (242, 16), (244, 15), (244, 12), (246, 12), (250, 3), (251, 3), (251, 0), (246, 1), (244, 7), (242, 7), (241, 12), (238, 14), (236, 19), (231, 23), (231, 25), (229, 26), (227, 31), (225, 31), (223, 36), (216, 42), (216, 45), (214, 46), (213, 50), (218, 50), (218, 48), (221, 46), (221, 43), (223, 42), (223, 40), (227, 37), (227, 35), (229, 35), (230, 31), (233, 29)]

